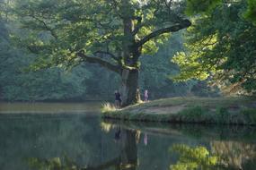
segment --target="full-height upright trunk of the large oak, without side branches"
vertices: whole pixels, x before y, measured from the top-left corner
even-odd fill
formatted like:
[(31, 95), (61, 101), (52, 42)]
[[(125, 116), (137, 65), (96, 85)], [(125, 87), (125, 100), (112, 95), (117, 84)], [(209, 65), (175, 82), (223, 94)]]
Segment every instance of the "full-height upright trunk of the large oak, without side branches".
[(135, 36), (133, 35), (134, 21), (133, 13), (135, 13), (130, 2), (122, 2), (124, 39), (122, 41), (122, 59), (124, 64), (131, 69), (123, 68), (121, 72), (120, 94), (122, 98), (121, 106), (128, 106), (137, 103), (139, 95), (137, 95), (138, 68), (137, 59), (140, 51), (136, 46)]

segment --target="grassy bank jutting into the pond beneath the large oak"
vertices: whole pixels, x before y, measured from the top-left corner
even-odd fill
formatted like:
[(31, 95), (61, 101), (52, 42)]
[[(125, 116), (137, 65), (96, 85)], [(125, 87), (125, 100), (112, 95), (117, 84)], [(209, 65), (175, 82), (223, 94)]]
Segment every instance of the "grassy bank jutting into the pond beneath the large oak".
[(110, 119), (256, 125), (255, 98), (165, 98), (122, 109), (102, 109)]

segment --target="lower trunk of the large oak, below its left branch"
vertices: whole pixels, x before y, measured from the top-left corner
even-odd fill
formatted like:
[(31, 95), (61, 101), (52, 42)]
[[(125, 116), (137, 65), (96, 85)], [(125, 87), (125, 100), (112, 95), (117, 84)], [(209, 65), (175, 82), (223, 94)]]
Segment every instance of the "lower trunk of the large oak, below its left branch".
[(137, 84), (138, 70), (126, 70), (124, 69), (121, 74), (121, 87), (120, 93), (122, 98), (121, 106), (128, 106), (135, 104), (139, 100), (137, 98)]

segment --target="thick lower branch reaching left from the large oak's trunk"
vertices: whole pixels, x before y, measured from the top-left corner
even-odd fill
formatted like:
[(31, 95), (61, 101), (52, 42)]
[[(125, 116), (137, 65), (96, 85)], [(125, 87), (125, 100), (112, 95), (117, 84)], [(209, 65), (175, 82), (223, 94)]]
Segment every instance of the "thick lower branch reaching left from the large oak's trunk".
[(79, 52), (76, 53), (76, 55), (80, 56), (84, 60), (84, 62), (87, 62), (90, 64), (100, 64), (112, 72), (121, 73), (121, 69), (118, 65), (110, 64), (109, 62), (102, 60), (101, 58), (98, 58), (98, 57), (85, 55), (84, 50), (80, 50)]

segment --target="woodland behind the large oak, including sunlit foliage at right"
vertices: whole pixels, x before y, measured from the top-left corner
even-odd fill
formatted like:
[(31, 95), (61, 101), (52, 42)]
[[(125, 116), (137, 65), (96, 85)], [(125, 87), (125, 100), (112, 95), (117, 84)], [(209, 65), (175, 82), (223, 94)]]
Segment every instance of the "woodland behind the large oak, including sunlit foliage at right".
[[(14, 2), (0, 0), (0, 100), (113, 98), (113, 91), (119, 89), (119, 77), (97, 64), (84, 63), (73, 68), (52, 66), (31, 71), (30, 65), (39, 56), (17, 44), (16, 37), (29, 34), (10, 10)], [(196, 8), (198, 12), (195, 6), (186, 4), (192, 26), (173, 33), (157, 46), (155, 54), (140, 58), (139, 88), (148, 89), (150, 99), (253, 95), (256, 26), (253, 25), (255, 15), (254, 19), (248, 16), (253, 13), (250, 9), (255, 9), (255, 4), (253, 0), (211, 4), (208, 11), (201, 4)], [(44, 32), (39, 36), (48, 38)]]

